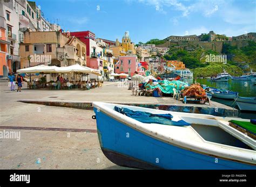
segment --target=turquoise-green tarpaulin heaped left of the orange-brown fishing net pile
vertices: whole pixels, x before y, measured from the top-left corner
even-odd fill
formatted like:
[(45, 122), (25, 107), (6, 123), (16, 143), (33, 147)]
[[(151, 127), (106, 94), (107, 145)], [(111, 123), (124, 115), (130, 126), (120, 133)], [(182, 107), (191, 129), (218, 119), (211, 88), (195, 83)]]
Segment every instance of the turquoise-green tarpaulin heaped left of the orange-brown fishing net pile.
[(183, 90), (185, 87), (187, 87), (185, 82), (168, 80), (158, 81), (158, 84), (156, 85), (153, 83), (151, 85), (149, 83), (145, 85), (146, 89), (159, 88), (163, 93), (173, 93), (173, 88), (176, 90)]

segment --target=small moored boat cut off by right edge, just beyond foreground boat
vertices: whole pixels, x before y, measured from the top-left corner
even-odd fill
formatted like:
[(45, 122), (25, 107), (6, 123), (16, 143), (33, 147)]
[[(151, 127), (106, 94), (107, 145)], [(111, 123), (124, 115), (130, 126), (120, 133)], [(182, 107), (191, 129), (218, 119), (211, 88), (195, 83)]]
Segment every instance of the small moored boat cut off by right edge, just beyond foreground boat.
[(256, 97), (234, 97), (240, 110), (256, 111)]

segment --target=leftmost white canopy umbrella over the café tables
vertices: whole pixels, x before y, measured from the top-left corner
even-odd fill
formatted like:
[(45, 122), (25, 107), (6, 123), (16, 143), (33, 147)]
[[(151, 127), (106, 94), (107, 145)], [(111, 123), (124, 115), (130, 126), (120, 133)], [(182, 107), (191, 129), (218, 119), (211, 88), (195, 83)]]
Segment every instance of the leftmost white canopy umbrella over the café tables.
[(29, 68), (19, 69), (17, 73), (55, 73), (55, 69), (58, 68), (57, 66), (45, 66), (45, 65), (38, 65)]

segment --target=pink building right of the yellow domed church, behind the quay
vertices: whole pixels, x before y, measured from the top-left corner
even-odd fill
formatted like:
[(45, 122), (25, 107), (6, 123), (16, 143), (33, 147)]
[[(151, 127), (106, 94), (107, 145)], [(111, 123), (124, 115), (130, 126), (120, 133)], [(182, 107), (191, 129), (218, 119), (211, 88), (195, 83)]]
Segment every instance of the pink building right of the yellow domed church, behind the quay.
[(119, 56), (119, 61), (114, 65), (114, 73), (125, 73), (132, 77), (134, 71), (140, 75), (145, 75), (144, 69), (138, 65), (137, 56)]

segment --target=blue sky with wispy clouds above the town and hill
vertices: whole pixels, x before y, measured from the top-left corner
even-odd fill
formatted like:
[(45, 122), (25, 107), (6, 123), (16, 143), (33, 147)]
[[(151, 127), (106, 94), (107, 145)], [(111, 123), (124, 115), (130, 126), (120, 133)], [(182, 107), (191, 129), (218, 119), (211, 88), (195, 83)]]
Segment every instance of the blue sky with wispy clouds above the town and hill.
[(35, 0), (44, 17), (65, 30), (91, 31), (136, 44), (170, 35), (256, 32), (256, 0)]

